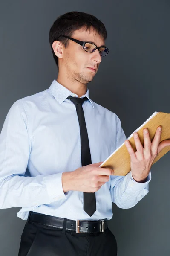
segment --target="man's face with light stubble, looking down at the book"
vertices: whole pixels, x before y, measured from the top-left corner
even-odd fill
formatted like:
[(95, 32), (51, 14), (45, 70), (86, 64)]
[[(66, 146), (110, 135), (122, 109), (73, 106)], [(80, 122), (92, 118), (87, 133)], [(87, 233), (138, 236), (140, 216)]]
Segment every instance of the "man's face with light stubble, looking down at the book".
[[(92, 29), (90, 32), (86, 29), (75, 30), (71, 37), (80, 41), (93, 42), (97, 47), (105, 44), (104, 39)], [(86, 52), (80, 44), (69, 40), (68, 47), (63, 49), (62, 64), (66, 68), (69, 79), (87, 84), (93, 80), (97, 73), (101, 58), (98, 49), (92, 53)], [(89, 67), (96, 69), (96, 71), (89, 69)]]

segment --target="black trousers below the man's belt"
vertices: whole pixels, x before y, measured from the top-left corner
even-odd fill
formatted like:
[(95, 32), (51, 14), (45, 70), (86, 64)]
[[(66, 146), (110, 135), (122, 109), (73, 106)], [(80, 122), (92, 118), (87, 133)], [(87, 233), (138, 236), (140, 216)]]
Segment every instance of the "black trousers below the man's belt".
[(49, 227), (28, 222), (21, 235), (18, 256), (116, 256), (117, 242), (107, 228), (100, 233)]

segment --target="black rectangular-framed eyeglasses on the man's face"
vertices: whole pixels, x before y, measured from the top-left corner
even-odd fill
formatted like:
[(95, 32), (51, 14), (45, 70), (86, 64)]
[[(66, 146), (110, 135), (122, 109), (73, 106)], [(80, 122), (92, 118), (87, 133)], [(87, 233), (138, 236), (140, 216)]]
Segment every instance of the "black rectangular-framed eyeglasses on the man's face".
[(80, 41), (80, 40), (77, 40), (77, 39), (75, 39), (75, 38), (70, 38), (70, 37), (67, 36), (67, 35), (61, 35), (61, 36), (65, 37), (65, 38), (69, 38), (70, 40), (76, 42), (77, 44), (82, 45), (83, 49), (84, 49), (86, 52), (91, 52), (91, 53), (92, 53), (92, 52), (94, 52), (96, 49), (98, 49), (100, 55), (103, 56), (103, 57), (106, 56), (106, 55), (108, 54), (108, 52), (109, 52), (109, 49), (108, 49), (107, 47), (103, 47), (103, 46), (97, 47), (97, 45), (95, 45), (95, 44), (92, 44), (92, 43), (90, 43), (90, 42)]

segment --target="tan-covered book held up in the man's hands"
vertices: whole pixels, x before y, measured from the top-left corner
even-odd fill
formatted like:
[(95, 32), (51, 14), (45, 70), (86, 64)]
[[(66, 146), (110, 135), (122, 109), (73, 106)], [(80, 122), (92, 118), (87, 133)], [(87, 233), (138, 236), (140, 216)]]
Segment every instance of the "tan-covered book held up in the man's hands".
[[(150, 118), (147, 119), (138, 129), (134, 132), (138, 132), (141, 144), (144, 146), (143, 129), (147, 128), (152, 142), (157, 127), (161, 125), (161, 141), (170, 139), (170, 113), (154, 112)], [(133, 132), (133, 133), (134, 133)], [(134, 151), (136, 151), (135, 141), (133, 133), (127, 138)], [(170, 150), (170, 146), (167, 146), (161, 150), (158, 156), (153, 161), (156, 163), (164, 154)], [(130, 154), (127, 151), (125, 143), (122, 143), (99, 167), (110, 168), (115, 171), (114, 175), (127, 175), (130, 172)]]

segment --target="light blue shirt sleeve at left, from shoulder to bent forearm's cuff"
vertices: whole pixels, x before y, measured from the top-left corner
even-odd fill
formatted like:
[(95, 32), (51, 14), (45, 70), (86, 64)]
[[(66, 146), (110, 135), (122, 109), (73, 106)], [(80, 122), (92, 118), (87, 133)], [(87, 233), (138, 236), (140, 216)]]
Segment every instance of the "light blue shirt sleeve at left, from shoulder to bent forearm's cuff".
[(0, 209), (31, 207), (66, 199), (62, 173), (26, 177), (30, 139), (23, 102), (13, 103), (0, 134)]

